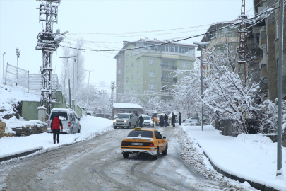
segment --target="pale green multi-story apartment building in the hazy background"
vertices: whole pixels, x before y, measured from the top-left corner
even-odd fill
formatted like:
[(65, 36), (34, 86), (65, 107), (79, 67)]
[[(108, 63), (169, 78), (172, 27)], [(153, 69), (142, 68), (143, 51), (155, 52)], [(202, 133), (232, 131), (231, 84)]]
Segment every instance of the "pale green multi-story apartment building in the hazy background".
[(193, 69), (195, 47), (149, 39), (124, 42), (114, 57), (117, 59), (117, 101), (127, 89), (133, 90), (137, 98), (144, 93), (172, 98), (169, 95), (172, 85), (184, 77), (174, 77), (174, 71)]

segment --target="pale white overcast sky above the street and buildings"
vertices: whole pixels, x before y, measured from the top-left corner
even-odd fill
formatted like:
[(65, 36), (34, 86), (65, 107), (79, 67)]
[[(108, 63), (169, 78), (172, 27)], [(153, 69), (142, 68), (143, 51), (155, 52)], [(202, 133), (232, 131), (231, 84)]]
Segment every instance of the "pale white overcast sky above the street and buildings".
[[(68, 30), (61, 45), (75, 44), (73, 39), (83, 37), (88, 41), (83, 48), (91, 50), (120, 49), (122, 41), (149, 39), (171, 40), (205, 33), (212, 23), (232, 21), (239, 16), (241, 0), (225, 1), (76, 1), (62, 0), (59, 6), (59, 22), (54, 23), (54, 33)], [(42, 51), (35, 50), (37, 34), (45, 27), (39, 23), (39, 1), (0, 0), (0, 53), (6, 63), (17, 65), (16, 47), (21, 50), (19, 67), (30, 73), (39, 73), (42, 66)], [(246, 0), (246, 11), (254, 14), (253, 0)], [(185, 28), (185, 29), (179, 29)], [(170, 30), (175, 29), (175, 30)], [(155, 31), (159, 30), (159, 31)], [(153, 31), (153, 32), (152, 32)], [(135, 32), (135, 33), (131, 33)], [(100, 34), (98, 34), (100, 33)], [(88, 34), (88, 35), (85, 35)], [(182, 41), (191, 44), (201, 37)], [(199, 54), (200, 52), (196, 52)], [(60, 74), (63, 54), (59, 47), (53, 55), (52, 74)], [(107, 90), (116, 80), (117, 52), (85, 51), (85, 69), (90, 73), (90, 83), (100, 85), (105, 81)], [(0, 59), (0, 76), (3, 56)], [(85, 79), (88, 83), (88, 75)]]

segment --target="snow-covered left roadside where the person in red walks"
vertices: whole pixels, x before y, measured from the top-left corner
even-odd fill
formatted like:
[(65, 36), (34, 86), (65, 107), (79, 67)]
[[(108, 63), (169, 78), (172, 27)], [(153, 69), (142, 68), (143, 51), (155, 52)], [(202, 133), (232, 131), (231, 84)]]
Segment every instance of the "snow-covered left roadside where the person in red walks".
[[(54, 149), (65, 144), (73, 144), (78, 141), (90, 139), (111, 130), (114, 130), (112, 120), (107, 120), (100, 117), (83, 116), (81, 118), (81, 133), (60, 134), (59, 144), (54, 144), (53, 134), (47, 132), (42, 134), (33, 134), (27, 137), (1, 138), (0, 158), (4, 156), (16, 155), (23, 151), (39, 148), (40, 146), (43, 147), (44, 151), (47, 149)], [(5, 161), (2, 163), (5, 163)]]

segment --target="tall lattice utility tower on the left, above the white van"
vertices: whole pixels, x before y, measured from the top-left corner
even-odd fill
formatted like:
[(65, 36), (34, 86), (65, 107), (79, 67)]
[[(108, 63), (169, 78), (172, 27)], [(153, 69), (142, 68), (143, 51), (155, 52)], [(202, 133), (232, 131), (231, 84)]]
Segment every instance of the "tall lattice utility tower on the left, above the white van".
[(39, 22), (46, 23), (46, 28), (37, 35), (36, 50), (42, 50), (42, 88), (41, 106), (47, 108), (49, 114), (52, 110), (52, 54), (59, 47), (68, 31), (53, 33), (53, 23), (58, 23), (58, 7), (61, 0), (41, 0), (39, 9)]

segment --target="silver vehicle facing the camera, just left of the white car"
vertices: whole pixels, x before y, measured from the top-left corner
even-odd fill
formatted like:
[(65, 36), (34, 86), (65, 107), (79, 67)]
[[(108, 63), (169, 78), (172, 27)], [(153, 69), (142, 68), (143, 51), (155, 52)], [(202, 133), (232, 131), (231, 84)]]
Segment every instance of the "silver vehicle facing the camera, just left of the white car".
[(137, 127), (139, 118), (133, 113), (120, 113), (116, 119), (113, 120), (113, 127), (117, 129), (117, 127), (127, 128)]

